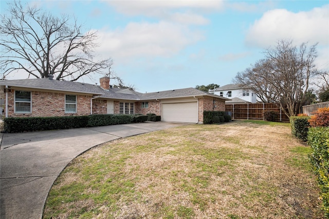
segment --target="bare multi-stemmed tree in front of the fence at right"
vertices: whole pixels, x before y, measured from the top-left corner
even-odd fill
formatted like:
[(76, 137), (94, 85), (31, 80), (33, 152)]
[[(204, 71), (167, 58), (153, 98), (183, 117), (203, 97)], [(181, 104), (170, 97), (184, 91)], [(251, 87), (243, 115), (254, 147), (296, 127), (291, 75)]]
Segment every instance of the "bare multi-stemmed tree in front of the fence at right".
[(292, 41), (278, 41), (275, 48), (264, 51), (264, 60), (237, 74), (235, 81), (260, 92), (264, 102), (280, 103), (287, 116), (296, 116), (305, 102), (310, 77), (317, 72), (316, 46), (307, 48), (307, 43), (302, 43), (298, 48)]

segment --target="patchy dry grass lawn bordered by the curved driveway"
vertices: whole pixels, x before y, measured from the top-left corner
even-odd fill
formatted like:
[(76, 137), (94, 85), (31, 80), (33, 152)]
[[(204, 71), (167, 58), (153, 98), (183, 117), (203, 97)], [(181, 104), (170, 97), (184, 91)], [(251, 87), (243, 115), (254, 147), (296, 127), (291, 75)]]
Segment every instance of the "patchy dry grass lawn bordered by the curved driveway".
[(184, 125), (104, 143), (53, 185), (44, 218), (324, 218), (289, 124)]

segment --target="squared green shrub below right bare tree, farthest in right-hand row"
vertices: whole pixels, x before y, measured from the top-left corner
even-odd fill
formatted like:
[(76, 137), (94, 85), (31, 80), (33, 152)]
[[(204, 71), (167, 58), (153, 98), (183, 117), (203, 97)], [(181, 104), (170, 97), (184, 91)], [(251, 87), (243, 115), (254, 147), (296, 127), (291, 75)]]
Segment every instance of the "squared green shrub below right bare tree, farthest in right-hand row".
[(306, 141), (309, 119), (309, 116), (290, 116), (291, 133), (297, 138)]

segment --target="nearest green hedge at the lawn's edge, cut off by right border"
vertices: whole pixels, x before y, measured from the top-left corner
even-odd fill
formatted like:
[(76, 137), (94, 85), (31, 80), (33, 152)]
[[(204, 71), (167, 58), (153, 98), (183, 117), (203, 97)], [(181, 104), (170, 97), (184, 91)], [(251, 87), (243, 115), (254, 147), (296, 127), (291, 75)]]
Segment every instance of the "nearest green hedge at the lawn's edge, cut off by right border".
[(313, 149), (310, 161), (321, 189), (322, 208), (329, 218), (329, 127), (311, 127), (307, 143)]

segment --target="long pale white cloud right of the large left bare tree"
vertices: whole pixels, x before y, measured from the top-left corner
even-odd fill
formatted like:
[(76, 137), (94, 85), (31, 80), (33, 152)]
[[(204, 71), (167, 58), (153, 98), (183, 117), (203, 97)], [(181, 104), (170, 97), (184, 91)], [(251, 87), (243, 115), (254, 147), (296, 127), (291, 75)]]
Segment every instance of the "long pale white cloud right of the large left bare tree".
[(129, 23), (124, 29), (99, 30), (102, 56), (118, 59), (170, 57), (201, 39), (200, 32), (168, 22)]

